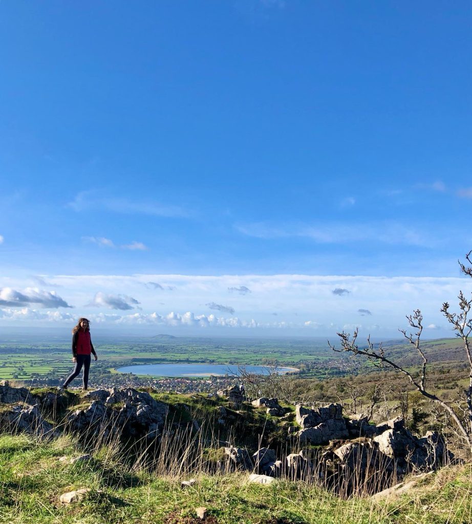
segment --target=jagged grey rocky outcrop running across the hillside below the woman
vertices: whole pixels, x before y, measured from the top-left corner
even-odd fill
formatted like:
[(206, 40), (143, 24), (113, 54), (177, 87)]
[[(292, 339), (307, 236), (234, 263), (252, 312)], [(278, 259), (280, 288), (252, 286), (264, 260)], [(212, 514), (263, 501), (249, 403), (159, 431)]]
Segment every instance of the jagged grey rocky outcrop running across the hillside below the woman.
[[(226, 393), (229, 395), (229, 401), (240, 399), (242, 395), (239, 387), (229, 388)], [(12, 388), (8, 384), (1, 384), (0, 400), (8, 401), (8, 405), (4, 404), (0, 410), (0, 426), (4, 430), (24, 431), (42, 438), (54, 435), (55, 431), (42, 416), (41, 409), (57, 408), (62, 410), (61, 413), (69, 413), (66, 425), (61, 424), (61, 428), (76, 432), (85, 443), (84, 450), (87, 449), (89, 438), (96, 442), (98, 436), (105, 439), (123, 436), (126, 441), (142, 440), (146, 448), (152, 449), (155, 453), (162, 452), (159, 445), (150, 444), (159, 443), (166, 420), (170, 434), (177, 431), (193, 433), (199, 431), (202, 439), (207, 438), (208, 424), (203, 423), (202, 420), (198, 422), (188, 420), (192, 416), (190, 406), (179, 405), (186, 410), (185, 422), (181, 419), (172, 421), (167, 417), (169, 410), (167, 404), (156, 401), (148, 392), (132, 388), (99, 389), (83, 396), (70, 392), (57, 394), (46, 390), (32, 396), (26, 388)], [(40, 401), (38, 405), (26, 403), (35, 400)], [(83, 400), (85, 403), (82, 402), (72, 413), (66, 411), (71, 402)], [(251, 418), (251, 414), (254, 413), (248, 404), (238, 413), (225, 407), (226, 403), (224, 406), (222, 404), (223, 402), (218, 403), (218, 400), (211, 400), (213, 411), (207, 421), (213, 424), (213, 429), (216, 426), (218, 432), (221, 432), (221, 437), (218, 436), (218, 439), (221, 438), (219, 445), (226, 446), (221, 447), (217, 455), (212, 456), (208, 461), (215, 471), (238, 469), (269, 477), (292, 479), (309, 479), (316, 475), (319, 479), (323, 479), (323, 482), (331, 483), (331, 486), (345, 486), (351, 493), (361, 485), (368, 486), (368, 493), (374, 493), (376, 490), (390, 486), (393, 482), (398, 482), (394, 481), (395, 478), (400, 480), (405, 474), (434, 471), (445, 460), (452, 459), (443, 439), (436, 432), (428, 432), (423, 438), (416, 438), (405, 429), (401, 418), (377, 425), (370, 425), (367, 417), (348, 419), (342, 416), (342, 407), (338, 404), (330, 404), (318, 409), (297, 406), (295, 413), (292, 413), (292, 417), (295, 417), (298, 422), (296, 427), (290, 425), (288, 420), (266, 420), (264, 431), (268, 433), (274, 431), (276, 438), (271, 440), (264, 435), (266, 439), (264, 443), (266, 446), (270, 444), (274, 449), (260, 447), (255, 452), (249, 451), (244, 447), (231, 445), (234, 442), (228, 442), (228, 434), (231, 434), (228, 430), (235, 430), (233, 434), (238, 437), (239, 429), (243, 428), (242, 424), (244, 429), (249, 427), (252, 431), (251, 425), (246, 426), (246, 422), (254, 424), (260, 417)], [(260, 409), (277, 409), (277, 405), (277, 399), (274, 398), (260, 398), (253, 402), (253, 407)], [(51, 412), (46, 411), (48, 417)], [(287, 435), (286, 443), (279, 440), (281, 434)], [(241, 442), (244, 441), (241, 439)], [(304, 444), (328, 443), (329, 446), (323, 449), (310, 445), (304, 446)], [(287, 451), (285, 451), (285, 444), (288, 447)], [(289, 453), (291, 445), (292, 450), (297, 451), (305, 447), (306, 453), (304, 454), (303, 451)], [(71, 464), (76, 462), (80, 464), (87, 460), (93, 459), (87, 454), (73, 459), (67, 457), (63, 459)]]

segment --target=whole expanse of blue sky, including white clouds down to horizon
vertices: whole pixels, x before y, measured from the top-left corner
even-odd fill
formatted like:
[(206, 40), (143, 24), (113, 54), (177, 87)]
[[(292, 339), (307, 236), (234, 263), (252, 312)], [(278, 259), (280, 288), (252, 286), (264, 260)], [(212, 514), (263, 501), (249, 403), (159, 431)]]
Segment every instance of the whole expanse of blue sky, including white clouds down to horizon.
[(0, 326), (389, 335), (421, 307), (446, 334), (471, 23), (468, 2), (3, 0)]

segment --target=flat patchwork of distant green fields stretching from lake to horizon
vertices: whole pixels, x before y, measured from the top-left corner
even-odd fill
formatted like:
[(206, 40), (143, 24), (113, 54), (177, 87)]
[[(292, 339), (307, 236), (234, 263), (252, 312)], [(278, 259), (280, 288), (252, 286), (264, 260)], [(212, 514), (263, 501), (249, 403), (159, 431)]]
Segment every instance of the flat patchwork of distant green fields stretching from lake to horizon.
[[(360, 342), (360, 341), (359, 341)], [(324, 339), (198, 339), (173, 337), (135, 338), (115, 341), (97, 336), (94, 346), (99, 361), (93, 362), (96, 383), (114, 384), (116, 368), (138, 364), (201, 363), (261, 365), (268, 362), (299, 368), (299, 376), (329, 379), (336, 376), (372, 372), (375, 368), (362, 358), (335, 353)], [(461, 341), (441, 339), (425, 341), (424, 351), (432, 369), (460, 372), (464, 363)], [(386, 353), (395, 362), (414, 370), (419, 357), (411, 345), (398, 341), (385, 344)], [(58, 379), (72, 369), (70, 343), (28, 337), (0, 340), (0, 380)], [(462, 378), (462, 376), (460, 377)]]

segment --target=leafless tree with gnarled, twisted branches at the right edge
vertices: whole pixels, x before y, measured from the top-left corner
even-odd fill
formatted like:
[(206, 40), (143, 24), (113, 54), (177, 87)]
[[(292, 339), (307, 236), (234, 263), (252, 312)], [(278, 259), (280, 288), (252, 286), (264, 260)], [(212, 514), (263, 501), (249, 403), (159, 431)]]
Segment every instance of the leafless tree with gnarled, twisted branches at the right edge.
[[(466, 259), (469, 266), (462, 264), (459, 260), (459, 266), (463, 273), (469, 277), (472, 277), (472, 250), (466, 255)], [(450, 406), (448, 402), (439, 398), (434, 392), (431, 392), (426, 387), (427, 379), (427, 365), (428, 360), (425, 353), (422, 350), (420, 339), (423, 331), (423, 315), (419, 309), (415, 310), (412, 315), (407, 315), (406, 319), (410, 324), (413, 332), (407, 333), (406, 330), (400, 329), (405, 339), (413, 345), (417, 354), (421, 359), (421, 369), (419, 378), (415, 378), (405, 367), (394, 362), (385, 355), (385, 351), (380, 343), (377, 347), (370, 340), (370, 335), (367, 337), (367, 346), (359, 347), (356, 343), (358, 329), (354, 331), (352, 336), (345, 331), (337, 333), (340, 341), (340, 349), (336, 349), (334, 345), (330, 344), (329, 347), (336, 352), (348, 352), (353, 355), (363, 355), (377, 367), (390, 367), (395, 371), (402, 373), (410, 381), (411, 385), (421, 393), (424, 397), (435, 402), (441, 406), (450, 420), (453, 421), (455, 428), (457, 429), (457, 435), (465, 441), (468, 446), (470, 454), (472, 454), (472, 350), (470, 348), (469, 336), (472, 333), (472, 318), (469, 317), (470, 310), (472, 308), (472, 298), (467, 300), (462, 291), (459, 292), (459, 310), (460, 313), (450, 313), (449, 304), (443, 303), (441, 312), (446, 317), (447, 321), (453, 326), (456, 336), (460, 337), (464, 342), (464, 350), (467, 356), (469, 364), (469, 385), (462, 392), (460, 402), (455, 402), (455, 406)], [(455, 409), (454, 409), (455, 408)], [(459, 413), (459, 414), (457, 414)]]

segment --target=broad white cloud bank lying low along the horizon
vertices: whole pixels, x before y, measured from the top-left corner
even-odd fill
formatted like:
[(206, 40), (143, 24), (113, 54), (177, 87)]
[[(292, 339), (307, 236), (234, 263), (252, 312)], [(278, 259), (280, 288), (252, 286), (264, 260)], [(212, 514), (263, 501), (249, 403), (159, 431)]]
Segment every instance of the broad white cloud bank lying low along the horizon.
[[(54, 291), (23, 289), (22, 284), (28, 279), (12, 282), (11, 278), (0, 277), (0, 284), (8, 280), (10, 285), (18, 286), (0, 288), (0, 325), (47, 323), (62, 329), (60, 324), (86, 316), (96, 325), (117, 331), (165, 327), (181, 334), (332, 336), (336, 331), (358, 327), (361, 332), (392, 336), (405, 326), (405, 315), (419, 308), (425, 318), (425, 332), (437, 337), (450, 335), (439, 313), (442, 303), (447, 300), (454, 305), (459, 289), (472, 291), (472, 281), (460, 277), (48, 275), (41, 278), (60, 287), (61, 296)], [(237, 290), (231, 293), (230, 303), (226, 302), (229, 289)], [(241, 293), (241, 289), (250, 289), (251, 293)], [(158, 302), (166, 290), (172, 291), (165, 295), (164, 303)], [(71, 307), (69, 303), (76, 305)], [(218, 313), (209, 314), (208, 309)]]

